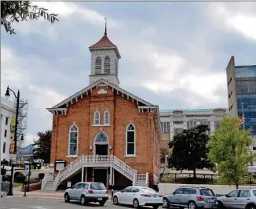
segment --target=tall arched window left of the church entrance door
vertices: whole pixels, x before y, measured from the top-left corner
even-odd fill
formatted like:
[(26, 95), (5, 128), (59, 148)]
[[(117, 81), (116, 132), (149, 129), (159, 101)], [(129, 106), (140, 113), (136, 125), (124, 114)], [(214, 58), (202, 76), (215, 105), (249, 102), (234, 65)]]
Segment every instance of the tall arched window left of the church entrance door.
[(71, 127), (69, 128), (69, 145), (68, 145), (69, 156), (78, 155), (77, 153), (78, 138), (79, 138), (79, 128), (75, 124), (72, 124)]

